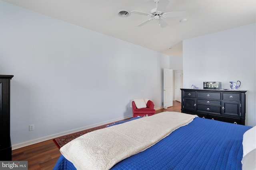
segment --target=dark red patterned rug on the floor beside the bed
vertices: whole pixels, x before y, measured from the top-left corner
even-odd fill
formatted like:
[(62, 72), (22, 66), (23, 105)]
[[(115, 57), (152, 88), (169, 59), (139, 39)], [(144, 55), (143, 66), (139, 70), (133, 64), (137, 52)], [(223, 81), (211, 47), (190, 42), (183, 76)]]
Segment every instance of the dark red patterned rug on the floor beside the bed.
[[(130, 118), (128, 118), (128, 119), (130, 119)], [(124, 120), (127, 120), (127, 119), (124, 119)], [(120, 121), (124, 121), (124, 120), (120, 120)], [(119, 121), (117, 121), (117, 122), (119, 122)], [(115, 123), (115, 122), (113, 122), (113, 123)], [(80, 137), (80, 136), (82, 136), (86, 133), (89, 133), (91, 131), (95, 131), (95, 130), (98, 130), (98, 129), (105, 128), (108, 125), (111, 125), (113, 123), (109, 123), (109, 124), (106, 124), (106, 125), (101, 125), (101, 126), (94, 127), (94, 128), (91, 128), (91, 129), (86, 129), (84, 131), (80, 131), (80, 132), (76, 132), (76, 133), (71, 133), (69, 135), (65, 135), (65, 136), (62, 136), (62, 137), (57, 137), (57, 138), (53, 139), (53, 141), (54, 141), (55, 145), (58, 147), (58, 149), (60, 149), (66, 143), (69, 143), (70, 141), (72, 141), (73, 139), (76, 139), (77, 137)]]

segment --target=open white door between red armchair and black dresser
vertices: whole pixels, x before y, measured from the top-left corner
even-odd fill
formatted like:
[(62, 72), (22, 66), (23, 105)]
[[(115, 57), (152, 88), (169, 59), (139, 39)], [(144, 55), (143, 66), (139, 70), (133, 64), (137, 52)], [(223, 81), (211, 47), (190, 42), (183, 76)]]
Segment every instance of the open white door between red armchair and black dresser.
[(172, 106), (172, 70), (164, 68), (164, 108)]

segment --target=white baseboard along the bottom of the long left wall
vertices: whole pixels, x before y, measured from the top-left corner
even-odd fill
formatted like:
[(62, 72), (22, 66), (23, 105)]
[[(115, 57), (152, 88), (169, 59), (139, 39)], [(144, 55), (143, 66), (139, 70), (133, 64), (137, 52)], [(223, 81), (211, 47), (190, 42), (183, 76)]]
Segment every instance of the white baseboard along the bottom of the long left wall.
[(70, 131), (65, 131), (65, 132), (62, 132), (62, 133), (56, 133), (54, 135), (49, 135), (49, 136), (46, 136), (46, 137), (34, 139), (34, 140), (31, 140), (31, 141), (26, 141), (26, 142), (23, 142), (23, 143), (18, 143), (18, 144), (12, 145), (12, 150), (19, 149), (19, 148), (22, 148), (22, 147), (27, 147), (29, 145), (34, 145), (36, 143), (48, 141), (50, 139), (54, 139), (54, 138), (61, 137), (61, 136), (64, 136), (64, 135), (69, 135), (71, 133), (76, 133), (76, 132), (79, 132), (79, 131), (84, 131), (86, 129), (90, 129), (90, 128), (106, 125), (106, 124), (113, 123), (113, 122), (116, 122), (116, 121), (120, 121), (120, 120), (123, 120), (123, 119), (128, 119), (130, 117), (131, 117), (131, 115), (130, 116), (125, 116), (125, 117), (119, 118), (119, 119), (113, 119), (113, 120), (110, 120), (110, 121), (105, 121), (105, 122), (102, 122), (102, 123), (97, 123), (97, 124), (94, 124), (94, 125), (89, 125), (89, 126), (81, 127), (81, 128), (78, 128), (78, 129), (73, 129), (73, 130), (70, 130)]

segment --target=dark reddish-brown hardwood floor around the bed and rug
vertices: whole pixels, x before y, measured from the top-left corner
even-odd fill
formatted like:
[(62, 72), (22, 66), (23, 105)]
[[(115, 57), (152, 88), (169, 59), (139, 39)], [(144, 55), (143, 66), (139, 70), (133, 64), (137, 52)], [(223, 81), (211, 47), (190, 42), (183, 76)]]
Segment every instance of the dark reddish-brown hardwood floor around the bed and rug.
[[(173, 102), (172, 107), (156, 110), (181, 112), (180, 102)], [(28, 170), (52, 170), (60, 157), (60, 151), (52, 140), (36, 143), (27, 147), (12, 150), (12, 160), (28, 161)]]

